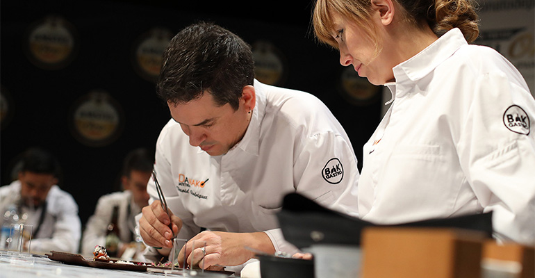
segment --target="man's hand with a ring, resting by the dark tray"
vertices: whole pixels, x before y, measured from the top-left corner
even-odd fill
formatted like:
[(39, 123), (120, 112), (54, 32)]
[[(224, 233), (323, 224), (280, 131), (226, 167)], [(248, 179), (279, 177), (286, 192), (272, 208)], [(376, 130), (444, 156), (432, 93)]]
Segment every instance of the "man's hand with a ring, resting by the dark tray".
[[(254, 257), (254, 253), (246, 250), (245, 246), (256, 250), (274, 254), (275, 248), (267, 234), (256, 233), (229, 233), (224, 231), (203, 231), (191, 238), (186, 244), (186, 256), (188, 265), (192, 263), (192, 253), (197, 257), (203, 254), (200, 248), (191, 250), (193, 240), (206, 241), (204, 256), (204, 269), (214, 269), (221, 265), (240, 265)], [(179, 254), (179, 261), (183, 261), (183, 250)], [(194, 261), (193, 263), (197, 263)], [(202, 266), (203, 262), (199, 263)]]

